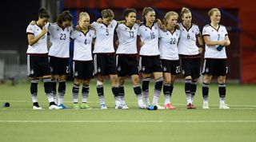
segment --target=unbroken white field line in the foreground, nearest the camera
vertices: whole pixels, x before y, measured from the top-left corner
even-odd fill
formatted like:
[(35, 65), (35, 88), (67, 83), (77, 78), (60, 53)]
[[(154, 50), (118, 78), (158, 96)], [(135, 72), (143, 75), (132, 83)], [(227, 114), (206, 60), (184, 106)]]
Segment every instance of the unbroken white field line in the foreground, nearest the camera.
[(256, 123), (256, 120), (0, 120), (0, 123)]

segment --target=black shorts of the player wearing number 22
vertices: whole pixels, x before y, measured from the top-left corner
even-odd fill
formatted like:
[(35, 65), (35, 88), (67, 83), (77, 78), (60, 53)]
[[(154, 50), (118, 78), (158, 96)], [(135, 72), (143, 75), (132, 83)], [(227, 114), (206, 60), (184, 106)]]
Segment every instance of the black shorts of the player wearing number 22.
[(161, 62), (162, 62), (162, 72), (163, 73), (170, 73), (172, 75), (181, 73), (179, 60), (171, 61), (171, 60), (161, 59)]

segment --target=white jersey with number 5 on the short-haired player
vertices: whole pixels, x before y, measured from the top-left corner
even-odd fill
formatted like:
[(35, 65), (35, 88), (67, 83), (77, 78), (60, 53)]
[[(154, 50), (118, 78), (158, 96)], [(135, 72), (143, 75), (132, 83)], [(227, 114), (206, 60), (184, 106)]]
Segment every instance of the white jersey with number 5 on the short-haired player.
[(114, 29), (118, 22), (112, 20), (110, 25), (93, 22), (91, 26), (96, 30), (94, 53), (114, 53)]

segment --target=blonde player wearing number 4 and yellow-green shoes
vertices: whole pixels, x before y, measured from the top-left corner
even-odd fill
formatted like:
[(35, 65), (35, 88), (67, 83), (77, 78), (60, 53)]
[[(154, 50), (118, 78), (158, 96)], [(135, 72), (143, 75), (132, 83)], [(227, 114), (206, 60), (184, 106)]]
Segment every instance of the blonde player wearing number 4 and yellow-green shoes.
[[(90, 108), (87, 104), (90, 79), (94, 77), (94, 62), (92, 58), (92, 41), (95, 31), (89, 28), (90, 16), (86, 12), (79, 14), (78, 29), (74, 30), (71, 38), (74, 39), (74, 85), (73, 107)], [(78, 105), (79, 85), (82, 82), (82, 104)]]

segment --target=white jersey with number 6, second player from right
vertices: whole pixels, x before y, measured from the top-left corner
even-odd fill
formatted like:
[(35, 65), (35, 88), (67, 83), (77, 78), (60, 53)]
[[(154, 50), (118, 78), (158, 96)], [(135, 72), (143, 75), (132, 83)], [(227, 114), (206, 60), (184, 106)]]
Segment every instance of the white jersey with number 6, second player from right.
[(181, 30), (181, 37), (178, 43), (178, 53), (182, 55), (197, 55), (199, 54), (197, 45), (197, 36), (200, 30), (197, 25), (191, 24), (190, 29), (186, 29), (182, 23), (178, 23)]

